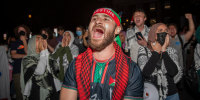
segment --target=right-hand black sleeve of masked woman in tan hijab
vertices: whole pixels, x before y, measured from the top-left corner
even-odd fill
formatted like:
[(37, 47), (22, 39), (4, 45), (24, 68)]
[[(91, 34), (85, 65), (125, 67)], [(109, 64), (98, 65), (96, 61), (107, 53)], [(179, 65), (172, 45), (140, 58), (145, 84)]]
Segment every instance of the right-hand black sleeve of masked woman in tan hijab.
[(167, 52), (162, 53), (164, 64), (167, 70), (167, 74), (174, 77), (178, 73), (178, 69), (174, 61), (169, 57)]

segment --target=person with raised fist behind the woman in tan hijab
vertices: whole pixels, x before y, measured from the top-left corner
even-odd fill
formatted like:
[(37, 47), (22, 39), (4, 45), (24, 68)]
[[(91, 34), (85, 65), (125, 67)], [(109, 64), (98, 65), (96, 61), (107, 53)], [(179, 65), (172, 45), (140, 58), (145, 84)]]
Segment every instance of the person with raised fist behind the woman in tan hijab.
[[(192, 14), (186, 13), (185, 18), (188, 21), (189, 28), (183, 29), (182, 34), (180, 34), (180, 32), (178, 31), (178, 26), (176, 24), (171, 23), (168, 25), (169, 35), (170, 35), (169, 46), (176, 49), (176, 51), (178, 51), (177, 52), (178, 58), (179, 58), (178, 62), (181, 66), (183, 75), (186, 74), (186, 71), (187, 71), (186, 62), (189, 59), (189, 56), (187, 56), (187, 52), (185, 52), (184, 45), (191, 39), (192, 35), (195, 32), (195, 25), (194, 25)], [(189, 59), (189, 60), (191, 60), (191, 59)], [(182, 97), (182, 96), (184, 96), (184, 95), (182, 95), (182, 93), (185, 90), (184, 79), (185, 79), (185, 77), (181, 78), (180, 82), (177, 83), (177, 87), (179, 90), (179, 94), (181, 95), (180, 96), (181, 98), (184, 98), (184, 97)], [(185, 94), (185, 95), (187, 95), (187, 94)]]

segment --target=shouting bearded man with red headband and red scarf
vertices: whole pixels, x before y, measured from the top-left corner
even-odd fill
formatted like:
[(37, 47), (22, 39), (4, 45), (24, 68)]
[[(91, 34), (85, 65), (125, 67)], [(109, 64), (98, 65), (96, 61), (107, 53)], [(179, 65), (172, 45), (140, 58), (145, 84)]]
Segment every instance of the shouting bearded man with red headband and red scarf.
[(89, 48), (67, 69), (61, 100), (142, 99), (141, 70), (114, 42), (121, 31), (120, 22), (112, 9), (100, 8), (93, 13)]

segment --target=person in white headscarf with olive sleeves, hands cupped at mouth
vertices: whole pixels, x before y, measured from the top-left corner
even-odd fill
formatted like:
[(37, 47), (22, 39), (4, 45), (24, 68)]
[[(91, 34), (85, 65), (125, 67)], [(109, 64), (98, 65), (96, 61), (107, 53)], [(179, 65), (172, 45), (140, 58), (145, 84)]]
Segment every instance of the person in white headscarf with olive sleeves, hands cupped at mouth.
[(64, 75), (70, 62), (79, 54), (78, 47), (73, 43), (74, 34), (71, 31), (65, 31), (62, 42), (59, 42), (55, 52), (52, 54), (53, 58), (57, 60), (60, 67), (58, 78), (61, 82), (64, 80)]

